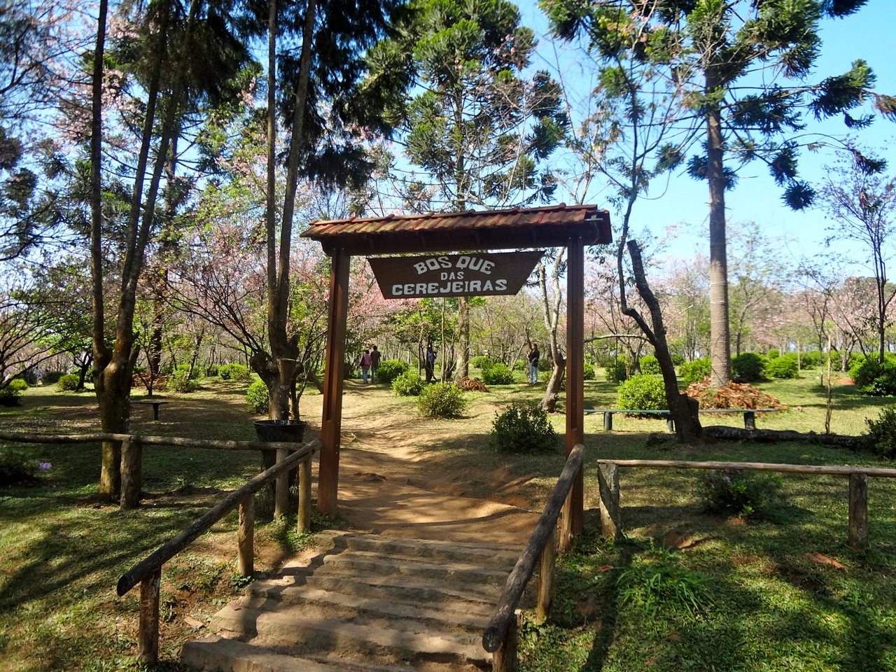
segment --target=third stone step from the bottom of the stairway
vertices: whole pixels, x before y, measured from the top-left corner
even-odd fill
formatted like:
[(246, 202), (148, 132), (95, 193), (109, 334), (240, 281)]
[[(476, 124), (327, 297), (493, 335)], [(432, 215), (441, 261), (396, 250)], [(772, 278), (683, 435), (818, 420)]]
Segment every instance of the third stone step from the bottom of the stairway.
[(294, 591), (310, 590), (340, 591), (358, 598), (395, 599), (437, 606), (438, 608), (471, 612), (491, 613), (497, 599), (504, 591), (501, 585), (458, 585), (453, 582), (437, 582), (433, 579), (417, 580), (413, 576), (345, 576), (340, 574), (308, 573), (290, 574), (276, 579), (253, 582), (249, 591), (253, 595), (288, 601)]

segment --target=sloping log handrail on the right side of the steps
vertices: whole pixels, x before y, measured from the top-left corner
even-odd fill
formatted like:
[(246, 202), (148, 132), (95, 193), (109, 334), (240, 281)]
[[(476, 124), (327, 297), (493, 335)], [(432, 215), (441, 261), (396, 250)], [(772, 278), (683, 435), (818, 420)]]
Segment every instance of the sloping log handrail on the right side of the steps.
[[(538, 616), (550, 615), (554, 602), (554, 567), (556, 558), (557, 519), (560, 517), (564, 503), (567, 502), (573, 487), (576, 474), (582, 469), (585, 446), (576, 444), (566, 458), (566, 464), (557, 479), (554, 491), (547, 499), (545, 510), (538, 518), (535, 530), (529, 543), (517, 560), (513, 572), (507, 577), (504, 594), (498, 601), (495, 612), (482, 635), (482, 646), (494, 653), (492, 659), (493, 672), (512, 672), (516, 669), (517, 620), (516, 607), (520, 603), (522, 593), (526, 590), (532, 574), (535, 572), (536, 560), (539, 560), (538, 572)], [(568, 508), (568, 507), (567, 507)], [(571, 517), (564, 515), (561, 530), (560, 549), (569, 550), (572, 541), (570, 530)]]

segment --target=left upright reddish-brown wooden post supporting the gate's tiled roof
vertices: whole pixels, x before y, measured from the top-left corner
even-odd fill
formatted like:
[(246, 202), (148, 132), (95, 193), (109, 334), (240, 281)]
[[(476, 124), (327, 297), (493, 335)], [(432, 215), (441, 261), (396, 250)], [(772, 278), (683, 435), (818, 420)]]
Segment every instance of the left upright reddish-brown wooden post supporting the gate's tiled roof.
[(345, 366), (346, 320), (349, 314), (350, 259), (351, 256), (341, 247), (332, 251), (327, 349), (323, 371), (321, 457), (317, 477), (317, 510), (321, 513), (336, 513), (339, 489), (342, 375)]

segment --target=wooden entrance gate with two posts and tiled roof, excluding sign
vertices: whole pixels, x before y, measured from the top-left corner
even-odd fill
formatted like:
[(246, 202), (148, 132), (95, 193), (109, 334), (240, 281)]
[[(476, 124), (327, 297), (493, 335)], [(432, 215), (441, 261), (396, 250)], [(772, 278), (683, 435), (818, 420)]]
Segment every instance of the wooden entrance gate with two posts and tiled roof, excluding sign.
[[(313, 222), (302, 237), (321, 243), (331, 259), (330, 303), (323, 383), (317, 509), (335, 513), (339, 487), (343, 360), (352, 256), (434, 254), (473, 250), (567, 248), (566, 454), (584, 440), (585, 247), (612, 242), (607, 211), (594, 205), (552, 205)], [(446, 295), (446, 296), (454, 296)], [(573, 532), (582, 531), (582, 470), (567, 502)]]

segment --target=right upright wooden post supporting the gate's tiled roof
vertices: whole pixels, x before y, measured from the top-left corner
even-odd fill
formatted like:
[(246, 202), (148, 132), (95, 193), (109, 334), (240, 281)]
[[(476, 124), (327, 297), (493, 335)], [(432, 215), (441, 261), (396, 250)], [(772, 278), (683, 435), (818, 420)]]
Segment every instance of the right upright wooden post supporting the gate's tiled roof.
[[(569, 238), (566, 247), (566, 455), (585, 443), (585, 246), (582, 238)], [(580, 469), (570, 493), (570, 530), (584, 530), (584, 470)]]

